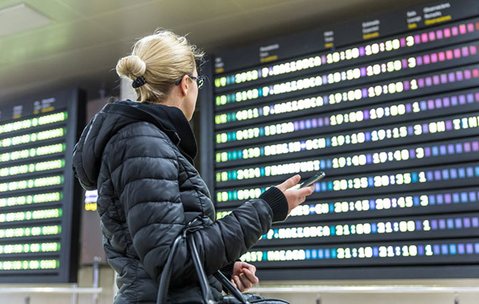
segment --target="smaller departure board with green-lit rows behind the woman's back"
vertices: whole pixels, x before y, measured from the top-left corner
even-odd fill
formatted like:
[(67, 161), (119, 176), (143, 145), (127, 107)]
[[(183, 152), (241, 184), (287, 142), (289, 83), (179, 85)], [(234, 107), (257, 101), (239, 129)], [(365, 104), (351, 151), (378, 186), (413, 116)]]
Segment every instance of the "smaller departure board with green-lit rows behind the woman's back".
[(79, 90), (0, 106), (1, 283), (77, 280), (82, 197), (72, 153), (82, 107)]

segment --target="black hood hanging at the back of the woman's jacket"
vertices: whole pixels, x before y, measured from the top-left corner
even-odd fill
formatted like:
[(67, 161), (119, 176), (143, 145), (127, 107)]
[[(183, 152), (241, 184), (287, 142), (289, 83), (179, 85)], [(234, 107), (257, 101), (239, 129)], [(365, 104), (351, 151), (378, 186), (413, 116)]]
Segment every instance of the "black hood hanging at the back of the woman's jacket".
[[(75, 177), (78, 177), (83, 188), (87, 190), (97, 189), (103, 150), (105, 150), (108, 141), (118, 130), (133, 122), (151, 122), (162, 130), (172, 140), (174, 145), (178, 146), (181, 138), (178, 135), (177, 128), (175, 128), (176, 123), (171, 121), (174, 118), (178, 120), (178, 117), (181, 120), (181, 116), (188, 125), (184, 129), (189, 128), (191, 133), (190, 135), (188, 130), (186, 130), (186, 134), (193, 136), (186, 117), (178, 108), (136, 103), (131, 100), (117, 101), (116, 103), (105, 105), (90, 120), (85, 130), (83, 130), (80, 140), (75, 145), (73, 150), (73, 172)], [(165, 117), (167, 118), (165, 119)], [(182, 124), (184, 125), (184, 122)], [(196, 154), (196, 142), (194, 142), (194, 154)], [(194, 154), (189, 157), (191, 162)]]

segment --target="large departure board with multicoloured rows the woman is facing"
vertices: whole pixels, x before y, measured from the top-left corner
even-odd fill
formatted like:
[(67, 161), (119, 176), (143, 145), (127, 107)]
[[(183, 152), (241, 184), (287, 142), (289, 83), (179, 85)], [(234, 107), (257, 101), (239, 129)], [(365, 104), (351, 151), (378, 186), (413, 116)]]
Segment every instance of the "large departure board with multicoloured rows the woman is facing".
[(479, 278), (477, 0), (273, 38), (212, 65), (217, 219), (326, 173), (241, 256), (260, 278)]

